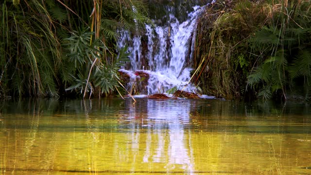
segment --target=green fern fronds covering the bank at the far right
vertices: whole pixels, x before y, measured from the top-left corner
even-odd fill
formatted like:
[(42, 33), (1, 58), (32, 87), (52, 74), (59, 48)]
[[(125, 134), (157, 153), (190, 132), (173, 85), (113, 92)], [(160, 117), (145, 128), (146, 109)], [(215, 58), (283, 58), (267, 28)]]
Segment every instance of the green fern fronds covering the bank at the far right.
[(310, 7), (307, 1), (282, 3), (248, 40), (259, 65), (250, 72), (248, 85), (259, 91), (258, 97), (310, 98)]

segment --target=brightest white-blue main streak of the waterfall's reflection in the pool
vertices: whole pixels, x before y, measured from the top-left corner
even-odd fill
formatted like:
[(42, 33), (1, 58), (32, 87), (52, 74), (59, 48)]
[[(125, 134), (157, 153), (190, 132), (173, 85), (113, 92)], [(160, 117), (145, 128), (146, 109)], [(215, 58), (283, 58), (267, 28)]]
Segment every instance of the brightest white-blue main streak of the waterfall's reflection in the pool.
[[(167, 166), (175, 166), (176, 164), (182, 165), (187, 171), (193, 171), (190, 162), (190, 145), (187, 145), (188, 139), (184, 135), (184, 125), (189, 124), (190, 104), (180, 103), (176, 104), (167, 103), (165, 101), (148, 101), (148, 125), (153, 128), (149, 130), (156, 132), (158, 135), (158, 148), (156, 155), (152, 158), (154, 162), (159, 161), (159, 155), (165, 155), (164, 149), (167, 147)], [(163, 142), (166, 132), (163, 129), (168, 129), (169, 139), (168, 143)], [(147, 140), (152, 142), (154, 140)], [(148, 148), (147, 148), (148, 149)], [(163, 157), (162, 157), (163, 158)], [(170, 168), (170, 167), (167, 167)], [(172, 168), (172, 167), (171, 167)]]

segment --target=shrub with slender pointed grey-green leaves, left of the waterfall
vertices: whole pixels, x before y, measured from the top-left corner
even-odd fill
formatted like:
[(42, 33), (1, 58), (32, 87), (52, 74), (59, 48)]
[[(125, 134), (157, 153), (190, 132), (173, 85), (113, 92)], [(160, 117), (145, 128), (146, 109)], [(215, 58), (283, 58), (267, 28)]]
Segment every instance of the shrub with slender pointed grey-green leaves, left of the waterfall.
[[(73, 77), (74, 82), (70, 82), (71, 86), (66, 88), (66, 90), (75, 90), (78, 93), (83, 93), (85, 90), (91, 95), (100, 89), (100, 93), (109, 94), (114, 88), (119, 87), (119, 77), (118, 70), (128, 59), (128, 53), (126, 53), (127, 48), (122, 48), (118, 51), (118, 55), (112, 54), (112, 59), (109, 62), (106, 60), (101, 60), (107, 48), (100, 39), (95, 39), (92, 44), (90, 43), (92, 33), (82, 31), (75, 32), (71, 37), (66, 38), (66, 46), (69, 51), (69, 60), (75, 64), (78, 74), (74, 72), (70, 73)], [(97, 62), (93, 62), (99, 60)], [(79, 63), (79, 64), (77, 64)], [(93, 73), (90, 74), (88, 79), (88, 71), (91, 65), (94, 64)]]

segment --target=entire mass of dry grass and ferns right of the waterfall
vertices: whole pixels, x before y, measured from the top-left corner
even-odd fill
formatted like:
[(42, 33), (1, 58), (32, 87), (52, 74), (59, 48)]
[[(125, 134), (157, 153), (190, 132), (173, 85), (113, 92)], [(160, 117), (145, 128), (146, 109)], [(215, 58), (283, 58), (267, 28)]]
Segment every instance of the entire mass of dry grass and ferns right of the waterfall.
[(219, 0), (199, 21), (194, 82), (250, 100), (310, 99), (310, 0)]

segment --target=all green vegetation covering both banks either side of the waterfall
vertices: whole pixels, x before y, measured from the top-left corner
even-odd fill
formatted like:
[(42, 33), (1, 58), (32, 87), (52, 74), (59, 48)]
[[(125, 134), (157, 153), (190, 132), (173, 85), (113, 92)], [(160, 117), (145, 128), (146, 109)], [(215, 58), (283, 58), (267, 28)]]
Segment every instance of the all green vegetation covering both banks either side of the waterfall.
[[(127, 61), (116, 47), (121, 29), (139, 33), (171, 11), (182, 21), (206, 3), (4, 0), (0, 98), (115, 94)], [(310, 10), (310, 0), (217, 0), (198, 21), (192, 81), (226, 99), (309, 100)]]

